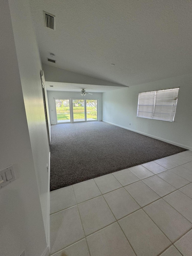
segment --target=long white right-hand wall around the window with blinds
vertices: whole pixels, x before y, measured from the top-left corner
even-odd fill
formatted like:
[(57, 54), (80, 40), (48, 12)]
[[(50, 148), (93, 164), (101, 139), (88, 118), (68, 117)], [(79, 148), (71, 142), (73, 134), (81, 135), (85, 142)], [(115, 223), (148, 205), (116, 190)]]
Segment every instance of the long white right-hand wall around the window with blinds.
[[(139, 92), (179, 86), (174, 122), (137, 117)], [(103, 121), (192, 149), (192, 75), (187, 74), (103, 93)], [(131, 125), (129, 125), (131, 123)]]

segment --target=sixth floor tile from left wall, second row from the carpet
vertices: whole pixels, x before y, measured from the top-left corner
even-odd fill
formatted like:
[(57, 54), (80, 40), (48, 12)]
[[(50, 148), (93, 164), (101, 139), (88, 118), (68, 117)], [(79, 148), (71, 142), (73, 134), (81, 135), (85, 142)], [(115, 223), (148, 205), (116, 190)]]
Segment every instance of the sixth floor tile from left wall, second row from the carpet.
[(163, 173), (159, 173), (158, 176), (161, 179), (164, 179), (165, 181), (167, 181), (170, 185), (172, 185), (175, 188), (182, 188), (185, 185), (189, 184), (190, 182), (184, 178), (182, 178), (181, 176), (169, 171), (163, 172)]

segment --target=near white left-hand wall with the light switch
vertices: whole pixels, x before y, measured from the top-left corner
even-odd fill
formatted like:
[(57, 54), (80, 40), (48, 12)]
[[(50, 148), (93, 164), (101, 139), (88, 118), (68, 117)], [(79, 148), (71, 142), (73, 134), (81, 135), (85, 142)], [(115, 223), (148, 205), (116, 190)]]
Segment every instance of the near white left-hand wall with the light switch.
[(0, 12), (0, 169), (13, 164), (16, 175), (0, 190), (0, 255), (39, 256), (47, 249), (49, 177), (41, 63), (29, 2), (2, 0)]

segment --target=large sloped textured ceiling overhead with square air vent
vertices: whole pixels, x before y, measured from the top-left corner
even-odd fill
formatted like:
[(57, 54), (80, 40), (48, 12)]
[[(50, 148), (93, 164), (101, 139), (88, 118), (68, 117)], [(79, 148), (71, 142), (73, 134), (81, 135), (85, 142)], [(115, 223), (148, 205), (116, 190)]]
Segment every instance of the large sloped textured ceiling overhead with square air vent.
[[(126, 86), (191, 72), (189, 0), (30, 4), (43, 63)], [(56, 16), (55, 31), (44, 26), (43, 11)], [(50, 53), (55, 54), (55, 64), (47, 62)]]

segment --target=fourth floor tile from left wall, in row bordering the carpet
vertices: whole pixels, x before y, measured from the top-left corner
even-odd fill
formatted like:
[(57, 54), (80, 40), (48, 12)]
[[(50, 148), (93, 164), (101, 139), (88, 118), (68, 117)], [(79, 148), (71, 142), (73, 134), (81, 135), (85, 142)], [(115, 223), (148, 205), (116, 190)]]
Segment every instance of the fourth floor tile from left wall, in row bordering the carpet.
[(139, 179), (128, 169), (114, 172), (113, 175), (121, 183), (122, 186), (126, 186), (136, 181), (139, 181)]

